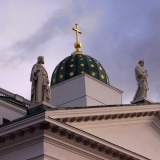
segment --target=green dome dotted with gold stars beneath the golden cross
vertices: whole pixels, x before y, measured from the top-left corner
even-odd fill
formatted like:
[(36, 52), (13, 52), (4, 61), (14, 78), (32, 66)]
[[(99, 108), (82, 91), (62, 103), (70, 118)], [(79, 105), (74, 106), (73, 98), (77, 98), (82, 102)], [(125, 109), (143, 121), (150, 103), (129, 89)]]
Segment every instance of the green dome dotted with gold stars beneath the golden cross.
[(66, 57), (57, 65), (52, 74), (51, 86), (84, 73), (109, 84), (109, 78), (97, 60), (88, 55), (75, 54)]

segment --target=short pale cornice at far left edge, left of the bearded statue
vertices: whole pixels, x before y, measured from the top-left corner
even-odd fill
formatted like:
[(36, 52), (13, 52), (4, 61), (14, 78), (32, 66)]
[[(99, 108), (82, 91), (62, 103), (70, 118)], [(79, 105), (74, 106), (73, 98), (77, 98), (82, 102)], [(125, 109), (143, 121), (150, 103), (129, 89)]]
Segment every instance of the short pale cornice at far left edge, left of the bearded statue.
[(12, 111), (15, 111), (15, 112), (23, 114), (23, 115), (26, 115), (26, 113), (27, 113), (26, 109), (12, 105), (12, 104), (5, 102), (5, 101), (2, 101), (2, 100), (0, 100), (0, 105), (2, 105), (2, 107), (6, 107)]

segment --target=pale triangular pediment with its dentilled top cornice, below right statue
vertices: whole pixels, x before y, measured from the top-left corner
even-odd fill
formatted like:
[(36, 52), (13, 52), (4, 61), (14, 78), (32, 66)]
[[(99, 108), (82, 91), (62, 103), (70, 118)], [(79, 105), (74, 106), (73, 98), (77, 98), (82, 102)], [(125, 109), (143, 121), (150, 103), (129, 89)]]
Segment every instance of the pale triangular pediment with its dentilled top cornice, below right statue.
[(58, 111), (59, 117), (56, 114), (50, 117), (149, 159), (158, 160), (159, 111), (159, 104), (133, 105), (66, 110), (65, 116)]

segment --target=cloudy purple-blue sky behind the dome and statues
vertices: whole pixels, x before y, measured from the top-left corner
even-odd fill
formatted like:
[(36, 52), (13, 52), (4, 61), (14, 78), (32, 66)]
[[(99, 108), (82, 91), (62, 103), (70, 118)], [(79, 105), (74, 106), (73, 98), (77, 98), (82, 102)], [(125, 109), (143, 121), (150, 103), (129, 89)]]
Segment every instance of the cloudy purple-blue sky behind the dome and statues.
[(148, 98), (160, 102), (159, 0), (0, 1), (0, 87), (30, 99), (30, 71), (39, 55), (51, 77), (73, 51), (75, 23), (82, 51), (97, 59), (112, 86), (130, 103), (137, 89), (134, 68), (148, 70)]

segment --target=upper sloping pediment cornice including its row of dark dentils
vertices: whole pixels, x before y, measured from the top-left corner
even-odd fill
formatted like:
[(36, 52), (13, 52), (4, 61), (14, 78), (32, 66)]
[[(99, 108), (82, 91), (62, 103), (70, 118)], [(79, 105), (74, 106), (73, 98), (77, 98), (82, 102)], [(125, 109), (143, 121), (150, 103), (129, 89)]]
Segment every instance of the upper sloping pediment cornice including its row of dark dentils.
[[(87, 122), (95, 120), (122, 119), (134, 117), (159, 116), (160, 105), (133, 105), (97, 108), (79, 108), (75, 110), (47, 111), (47, 115), (63, 123)], [(53, 113), (53, 114), (52, 114)], [(67, 115), (67, 116), (66, 116)]]

